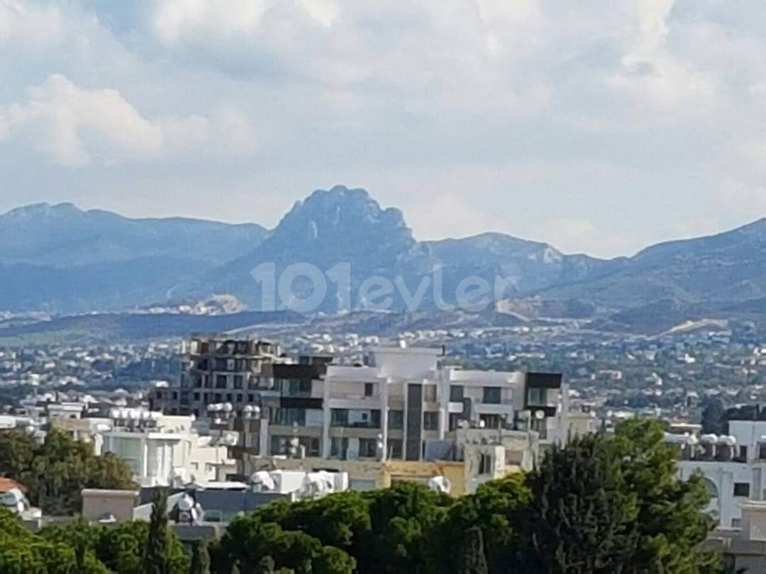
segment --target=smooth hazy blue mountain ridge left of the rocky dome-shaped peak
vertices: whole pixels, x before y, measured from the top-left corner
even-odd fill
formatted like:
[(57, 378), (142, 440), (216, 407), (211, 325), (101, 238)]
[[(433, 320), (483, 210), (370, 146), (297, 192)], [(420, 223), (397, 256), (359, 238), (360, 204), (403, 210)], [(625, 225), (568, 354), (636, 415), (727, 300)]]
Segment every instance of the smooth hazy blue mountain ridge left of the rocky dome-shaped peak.
[(0, 308), (97, 311), (164, 301), (178, 282), (266, 234), (256, 224), (133, 220), (72, 204), (20, 207), (0, 215)]

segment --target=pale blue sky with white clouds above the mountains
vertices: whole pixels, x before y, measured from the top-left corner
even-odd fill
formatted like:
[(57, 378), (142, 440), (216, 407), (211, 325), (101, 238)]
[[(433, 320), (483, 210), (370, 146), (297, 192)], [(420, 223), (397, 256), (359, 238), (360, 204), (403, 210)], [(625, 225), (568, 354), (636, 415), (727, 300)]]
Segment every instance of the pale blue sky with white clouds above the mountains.
[(0, 210), (635, 253), (766, 216), (762, 0), (0, 0)]

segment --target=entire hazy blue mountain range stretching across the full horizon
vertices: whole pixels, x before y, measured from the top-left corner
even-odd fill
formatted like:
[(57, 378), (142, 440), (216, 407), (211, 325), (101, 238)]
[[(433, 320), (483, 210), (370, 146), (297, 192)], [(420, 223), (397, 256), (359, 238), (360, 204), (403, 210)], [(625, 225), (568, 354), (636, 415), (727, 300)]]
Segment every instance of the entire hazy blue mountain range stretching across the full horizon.
[[(336, 186), (297, 202), (273, 230), (250, 223), (129, 219), (73, 204), (35, 204), (0, 216), (0, 310), (74, 314), (196, 302), (234, 295), (251, 310), (264, 302), (251, 272), (273, 263), (275, 277), (294, 263), (327, 271), (350, 265), (350, 301), (335, 282), (319, 311), (360, 308), (365, 279), (399, 278), (391, 293), (430, 282), (421, 308), (435, 303), (435, 273), (444, 299), (460, 282), (507, 279), (500, 308), (523, 316), (597, 318), (630, 325), (661, 314), (766, 316), (766, 220), (715, 236), (661, 243), (632, 257), (567, 255), (548, 243), (502, 233), (417, 241), (395, 208), (362, 189)], [(312, 292), (296, 278), (298, 297)]]

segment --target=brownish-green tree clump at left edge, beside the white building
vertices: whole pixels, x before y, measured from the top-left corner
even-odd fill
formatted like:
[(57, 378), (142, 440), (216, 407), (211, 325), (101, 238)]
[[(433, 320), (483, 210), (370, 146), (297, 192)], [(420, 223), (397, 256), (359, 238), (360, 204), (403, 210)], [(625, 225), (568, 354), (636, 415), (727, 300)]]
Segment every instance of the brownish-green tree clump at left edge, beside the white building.
[(80, 511), (83, 488), (135, 488), (129, 468), (112, 454), (96, 456), (92, 445), (52, 429), (43, 444), (18, 430), (0, 432), (0, 475), (28, 489), (45, 514)]

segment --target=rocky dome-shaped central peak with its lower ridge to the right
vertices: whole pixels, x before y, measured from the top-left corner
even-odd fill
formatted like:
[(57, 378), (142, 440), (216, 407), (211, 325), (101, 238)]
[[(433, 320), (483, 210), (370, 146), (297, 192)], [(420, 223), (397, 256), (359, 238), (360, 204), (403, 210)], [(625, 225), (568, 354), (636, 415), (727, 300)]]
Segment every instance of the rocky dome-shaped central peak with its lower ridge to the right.
[[(490, 285), (496, 278), (508, 279), (511, 286), (506, 295), (518, 295), (580, 279), (604, 264), (587, 256), (565, 256), (548, 244), (501, 233), (417, 243), (401, 211), (382, 209), (364, 190), (336, 186), (315, 191), (296, 204), (251, 253), (182, 285), (174, 295), (228, 292), (259, 308), (264, 301), (261, 285), (250, 272), (264, 263), (274, 264), (277, 279), (283, 269), (296, 263), (310, 263), (325, 272), (347, 263), (354, 307), (363, 303), (358, 299), (360, 285), (374, 276), (391, 282), (398, 279), (410, 295), (429, 282), (422, 302), (427, 307), (434, 302), (434, 284), (427, 278), (437, 269), (443, 278), (442, 296), (453, 302), (458, 285), (470, 276), (486, 279)], [(305, 283), (299, 280), (293, 285), (300, 297), (310, 293)], [(332, 282), (327, 287), (321, 308), (332, 311), (337, 308), (338, 294)], [(402, 308), (406, 295), (401, 297), (395, 290), (392, 308)]]

